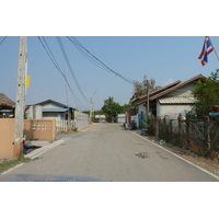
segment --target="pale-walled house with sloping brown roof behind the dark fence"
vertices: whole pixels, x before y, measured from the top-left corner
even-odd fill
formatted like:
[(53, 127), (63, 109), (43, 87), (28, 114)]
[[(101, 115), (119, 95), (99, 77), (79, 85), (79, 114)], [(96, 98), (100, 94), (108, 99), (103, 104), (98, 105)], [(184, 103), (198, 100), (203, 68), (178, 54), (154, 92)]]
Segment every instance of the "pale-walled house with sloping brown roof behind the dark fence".
[[(163, 118), (176, 119), (178, 114), (185, 116), (187, 112), (192, 111), (195, 99), (192, 90), (198, 80), (206, 79), (206, 77), (198, 74), (184, 82), (175, 81), (157, 91), (149, 93), (149, 115)], [(142, 95), (132, 103), (138, 105), (138, 120), (147, 120), (147, 95)]]

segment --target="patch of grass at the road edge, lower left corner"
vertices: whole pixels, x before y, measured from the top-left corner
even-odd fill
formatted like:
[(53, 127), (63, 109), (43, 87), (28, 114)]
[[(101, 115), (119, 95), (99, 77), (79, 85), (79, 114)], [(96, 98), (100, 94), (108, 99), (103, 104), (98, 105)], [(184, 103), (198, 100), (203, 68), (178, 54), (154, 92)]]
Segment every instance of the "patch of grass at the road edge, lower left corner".
[(15, 159), (4, 159), (0, 161), (0, 173), (8, 171), (9, 169), (20, 164), (20, 163), (27, 163), (30, 161), (36, 160), (31, 158), (15, 158)]

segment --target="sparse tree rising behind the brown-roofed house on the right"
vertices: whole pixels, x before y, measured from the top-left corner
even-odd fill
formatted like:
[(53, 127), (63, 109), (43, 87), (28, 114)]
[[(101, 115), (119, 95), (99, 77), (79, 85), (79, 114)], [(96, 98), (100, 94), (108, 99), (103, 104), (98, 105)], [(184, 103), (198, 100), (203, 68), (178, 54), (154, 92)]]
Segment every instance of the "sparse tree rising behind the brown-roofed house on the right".
[[(129, 101), (130, 106), (134, 106), (131, 104), (132, 101), (135, 101), (139, 96), (147, 94), (147, 80), (148, 80), (148, 77), (145, 76), (142, 82), (138, 82), (138, 81), (134, 82), (134, 92), (132, 92), (132, 96), (130, 97), (130, 101)], [(161, 88), (160, 85), (155, 85), (155, 79), (149, 80), (149, 93), (151, 93), (160, 88)]]

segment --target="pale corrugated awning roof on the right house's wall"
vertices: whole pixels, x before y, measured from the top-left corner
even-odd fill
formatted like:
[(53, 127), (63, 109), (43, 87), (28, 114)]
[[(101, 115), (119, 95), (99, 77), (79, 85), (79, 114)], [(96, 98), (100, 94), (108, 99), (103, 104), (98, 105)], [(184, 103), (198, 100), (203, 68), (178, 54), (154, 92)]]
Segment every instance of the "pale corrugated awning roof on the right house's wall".
[(173, 96), (159, 99), (160, 104), (193, 104), (195, 99), (193, 96)]

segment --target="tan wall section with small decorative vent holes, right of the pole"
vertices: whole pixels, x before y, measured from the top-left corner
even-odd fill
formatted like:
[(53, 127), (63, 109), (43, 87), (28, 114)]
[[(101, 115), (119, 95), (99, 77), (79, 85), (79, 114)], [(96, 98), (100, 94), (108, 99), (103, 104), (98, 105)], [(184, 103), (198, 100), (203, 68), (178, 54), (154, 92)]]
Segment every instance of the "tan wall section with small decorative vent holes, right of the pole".
[(53, 141), (56, 138), (56, 120), (55, 119), (25, 119), (24, 135), (26, 139), (38, 139)]

